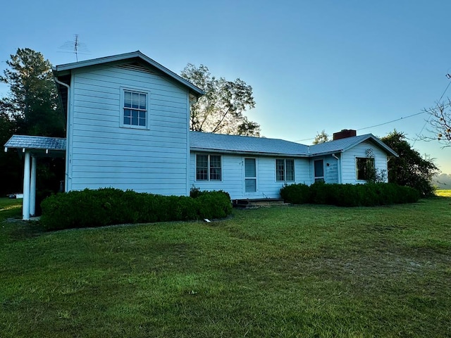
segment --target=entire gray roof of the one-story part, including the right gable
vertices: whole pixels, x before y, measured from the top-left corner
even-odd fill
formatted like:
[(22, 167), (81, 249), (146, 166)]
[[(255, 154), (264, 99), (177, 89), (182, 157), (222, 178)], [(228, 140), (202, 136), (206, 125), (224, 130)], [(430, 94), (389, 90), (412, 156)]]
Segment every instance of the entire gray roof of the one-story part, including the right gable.
[(388, 154), (397, 156), (395, 151), (386, 146), (377, 137), (373, 136), (373, 134), (347, 137), (336, 141), (306, 146), (304, 144), (289, 142), (283, 139), (191, 132), (190, 148), (192, 151), (218, 151), (235, 154), (309, 157), (347, 151), (367, 139), (370, 139), (373, 143), (381, 146)]

